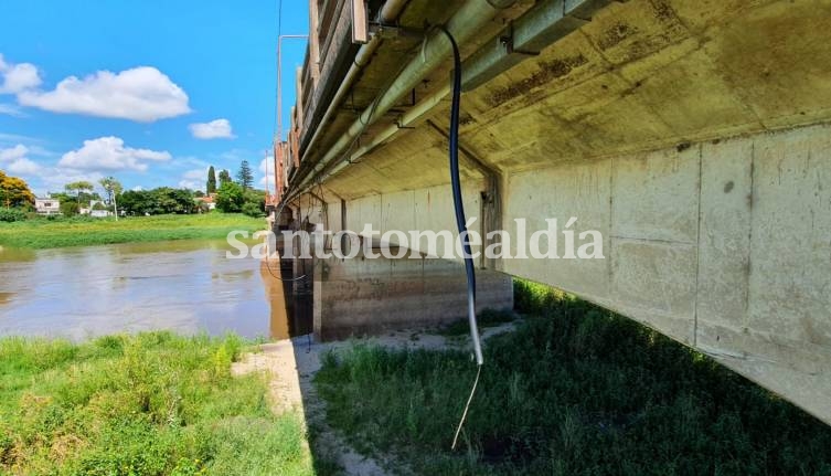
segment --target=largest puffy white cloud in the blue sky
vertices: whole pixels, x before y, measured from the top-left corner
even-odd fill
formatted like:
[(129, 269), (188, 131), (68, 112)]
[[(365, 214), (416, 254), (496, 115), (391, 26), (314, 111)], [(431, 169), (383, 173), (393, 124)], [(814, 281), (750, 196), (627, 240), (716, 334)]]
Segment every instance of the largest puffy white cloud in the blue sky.
[(70, 76), (51, 92), (21, 91), (18, 102), (53, 113), (152, 123), (191, 112), (188, 95), (150, 66), (120, 73), (99, 71), (79, 80)]

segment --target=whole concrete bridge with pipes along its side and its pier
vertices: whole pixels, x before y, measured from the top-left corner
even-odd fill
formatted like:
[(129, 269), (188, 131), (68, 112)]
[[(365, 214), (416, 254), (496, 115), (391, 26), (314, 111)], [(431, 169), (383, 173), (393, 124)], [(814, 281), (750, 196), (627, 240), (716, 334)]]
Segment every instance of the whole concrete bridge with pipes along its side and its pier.
[[(603, 260), (482, 260), (480, 295), (510, 304), (502, 274), (556, 286), (831, 423), (831, 1), (310, 7), (275, 154), (296, 223), (455, 230), (451, 50), (433, 28), (446, 25), (464, 56), (462, 188), (478, 231), (515, 233), (525, 219), (530, 235), (574, 216), (577, 235), (603, 235)], [(365, 320), (396, 322), (402, 308), (418, 319), (414, 306), (443, 292), (464, 305), (464, 277), (443, 266), (441, 283), (459, 285), (425, 287), (424, 265), (367, 263), (310, 264), (318, 331), (349, 310), (326, 298), (371, 300), (372, 286), (398, 290), (374, 295), (385, 307)]]

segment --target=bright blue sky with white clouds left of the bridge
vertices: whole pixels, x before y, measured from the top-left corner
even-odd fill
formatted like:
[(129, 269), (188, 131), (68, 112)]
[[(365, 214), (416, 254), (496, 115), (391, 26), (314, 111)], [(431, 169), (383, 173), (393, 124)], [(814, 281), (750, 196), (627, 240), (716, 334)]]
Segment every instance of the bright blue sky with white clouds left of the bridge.
[[(262, 183), (278, 0), (4, 0), (0, 18), (0, 170), (38, 194), (104, 176), (202, 189), (209, 166), (243, 159)], [(307, 2), (285, 0), (281, 24), (307, 33)], [(284, 42), (284, 78), (303, 55)]]

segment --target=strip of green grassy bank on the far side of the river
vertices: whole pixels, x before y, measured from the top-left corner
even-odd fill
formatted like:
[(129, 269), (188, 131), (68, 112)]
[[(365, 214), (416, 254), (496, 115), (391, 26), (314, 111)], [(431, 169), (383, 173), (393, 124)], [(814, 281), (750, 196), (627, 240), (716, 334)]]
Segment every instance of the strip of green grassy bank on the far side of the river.
[(0, 246), (51, 248), (167, 240), (223, 239), (233, 230), (263, 230), (265, 221), (243, 214), (74, 218), (0, 223)]

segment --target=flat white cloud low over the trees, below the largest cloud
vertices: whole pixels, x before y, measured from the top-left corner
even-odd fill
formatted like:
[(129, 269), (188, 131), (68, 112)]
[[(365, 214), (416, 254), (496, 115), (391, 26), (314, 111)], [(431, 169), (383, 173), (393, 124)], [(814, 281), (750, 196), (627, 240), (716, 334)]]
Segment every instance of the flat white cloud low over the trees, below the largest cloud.
[(84, 147), (64, 154), (60, 167), (77, 170), (147, 170), (147, 161), (170, 160), (170, 152), (125, 147), (118, 137), (85, 140)]

